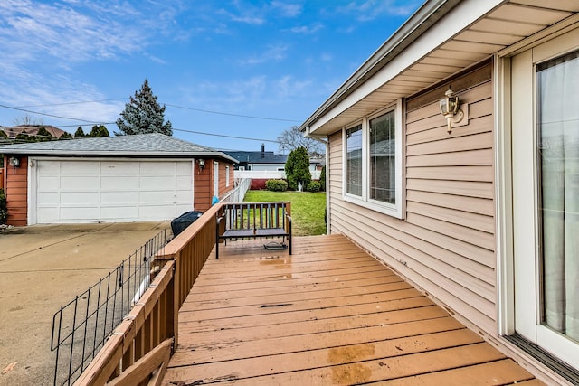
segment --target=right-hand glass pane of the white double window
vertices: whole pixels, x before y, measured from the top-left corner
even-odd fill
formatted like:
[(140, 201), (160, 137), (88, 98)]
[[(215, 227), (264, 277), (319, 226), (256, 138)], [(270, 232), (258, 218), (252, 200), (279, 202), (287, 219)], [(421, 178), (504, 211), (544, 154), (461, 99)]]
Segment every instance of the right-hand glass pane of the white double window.
[(394, 111), (370, 120), (370, 198), (396, 202)]

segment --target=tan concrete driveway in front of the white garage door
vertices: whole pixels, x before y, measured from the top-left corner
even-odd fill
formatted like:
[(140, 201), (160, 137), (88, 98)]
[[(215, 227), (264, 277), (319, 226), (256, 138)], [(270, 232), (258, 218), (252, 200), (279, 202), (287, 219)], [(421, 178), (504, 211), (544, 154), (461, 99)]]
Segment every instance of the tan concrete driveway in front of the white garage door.
[(52, 315), (170, 222), (0, 231), (0, 385), (52, 384)]

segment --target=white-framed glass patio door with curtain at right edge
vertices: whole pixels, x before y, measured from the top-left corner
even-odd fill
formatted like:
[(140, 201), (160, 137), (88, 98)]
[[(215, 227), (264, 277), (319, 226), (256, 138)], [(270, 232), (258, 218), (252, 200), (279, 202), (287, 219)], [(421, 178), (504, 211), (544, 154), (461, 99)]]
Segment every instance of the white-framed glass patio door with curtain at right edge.
[(517, 334), (579, 358), (579, 30), (512, 58)]

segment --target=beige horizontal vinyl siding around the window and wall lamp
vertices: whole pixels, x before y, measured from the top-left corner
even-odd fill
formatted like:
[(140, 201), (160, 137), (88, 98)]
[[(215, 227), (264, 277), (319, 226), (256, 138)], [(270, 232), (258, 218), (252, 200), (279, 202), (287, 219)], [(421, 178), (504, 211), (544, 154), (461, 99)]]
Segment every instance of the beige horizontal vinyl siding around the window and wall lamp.
[[(418, 287), (496, 334), (491, 64), (406, 101), (405, 219), (342, 200), (342, 137), (330, 141), (331, 232), (344, 233)], [(451, 84), (469, 124), (446, 131)]]

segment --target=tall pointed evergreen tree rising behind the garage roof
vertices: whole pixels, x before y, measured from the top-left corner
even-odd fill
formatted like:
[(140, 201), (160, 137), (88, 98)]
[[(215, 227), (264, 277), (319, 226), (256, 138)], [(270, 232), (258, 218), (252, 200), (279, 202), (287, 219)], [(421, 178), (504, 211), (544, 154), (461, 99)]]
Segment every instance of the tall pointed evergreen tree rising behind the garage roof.
[(171, 122), (165, 122), (165, 105), (161, 107), (157, 103), (157, 95), (153, 95), (147, 79), (141, 89), (135, 91), (135, 97), (130, 97), (130, 102), (125, 104), (120, 117), (117, 119), (120, 132), (115, 132), (116, 136), (147, 133), (173, 135)]

